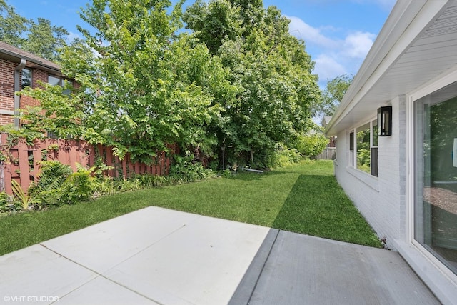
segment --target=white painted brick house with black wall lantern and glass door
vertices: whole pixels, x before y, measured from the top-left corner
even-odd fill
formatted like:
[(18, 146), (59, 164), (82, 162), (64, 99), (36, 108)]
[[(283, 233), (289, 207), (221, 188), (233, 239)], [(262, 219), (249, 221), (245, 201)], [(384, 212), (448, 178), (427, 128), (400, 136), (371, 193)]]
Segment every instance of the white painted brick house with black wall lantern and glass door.
[(326, 133), (336, 179), (378, 236), (456, 304), (457, 1), (397, 2)]

